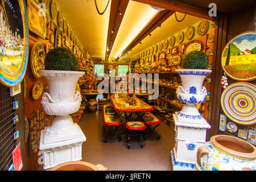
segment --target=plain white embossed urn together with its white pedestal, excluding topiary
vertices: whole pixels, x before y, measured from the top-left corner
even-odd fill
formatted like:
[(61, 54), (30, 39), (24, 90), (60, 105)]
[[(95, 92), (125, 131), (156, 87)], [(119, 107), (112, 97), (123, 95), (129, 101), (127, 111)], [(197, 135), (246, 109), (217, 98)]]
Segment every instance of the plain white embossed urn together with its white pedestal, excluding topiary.
[(86, 137), (69, 114), (79, 110), (81, 95), (75, 88), (84, 72), (40, 70), (39, 74), (49, 86), (49, 93), (43, 93), (43, 110), (55, 115), (51, 126), (41, 132), (39, 150), (43, 151), (44, 169), (81, 160), (81, 146)]

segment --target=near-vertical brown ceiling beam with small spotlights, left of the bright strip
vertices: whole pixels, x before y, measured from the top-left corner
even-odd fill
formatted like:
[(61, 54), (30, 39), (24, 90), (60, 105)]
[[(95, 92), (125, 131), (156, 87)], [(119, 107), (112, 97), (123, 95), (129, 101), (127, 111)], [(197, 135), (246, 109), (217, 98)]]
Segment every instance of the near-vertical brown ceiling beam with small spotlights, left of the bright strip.
[(112, 51), (115, 38), (117, 37), (117, 32), (121, 26), (123, 15), (125, 15), (128, 3), (129, 0), (112, 0), (111, 2), (105, 60), (108, 60), (110, 52)]

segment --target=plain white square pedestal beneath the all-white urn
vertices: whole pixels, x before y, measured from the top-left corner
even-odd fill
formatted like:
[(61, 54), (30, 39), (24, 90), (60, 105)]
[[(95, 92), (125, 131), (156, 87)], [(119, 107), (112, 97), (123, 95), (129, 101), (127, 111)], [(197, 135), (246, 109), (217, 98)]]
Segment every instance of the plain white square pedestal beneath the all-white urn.
[(58, 164), (82, 159), (82, 143), (86, 141), (84, 133), (77, 125), (77, 135), (72, 139), (60, 142), (44, 143), (45, 130), (41, 132), (39, 150), (43, 151), (44, 169), (49, 169)]

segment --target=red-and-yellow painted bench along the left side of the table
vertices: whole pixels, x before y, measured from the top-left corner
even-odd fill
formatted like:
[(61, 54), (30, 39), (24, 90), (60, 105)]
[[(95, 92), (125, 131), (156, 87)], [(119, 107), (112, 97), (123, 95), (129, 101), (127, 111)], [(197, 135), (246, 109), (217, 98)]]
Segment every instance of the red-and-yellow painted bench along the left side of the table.
[(108, 107), (108, 105), (103, 105), (102, 107), (102, 115), (103, 115), (103, 129), (105, 130), (105, 127), (108, 127), (111, 134), (104, 138), (104, 142), (107, 142), (107, 139), (109, 137), (115, 136), (118, 138), (118, 142), (121, 141), (120, 134), (116, 134), (117, 129), (119, 126), (123, 127), (123, 122), (117, 115), (117, 113), (112, 113), (110, 111), (106, 112), (105, 108)]

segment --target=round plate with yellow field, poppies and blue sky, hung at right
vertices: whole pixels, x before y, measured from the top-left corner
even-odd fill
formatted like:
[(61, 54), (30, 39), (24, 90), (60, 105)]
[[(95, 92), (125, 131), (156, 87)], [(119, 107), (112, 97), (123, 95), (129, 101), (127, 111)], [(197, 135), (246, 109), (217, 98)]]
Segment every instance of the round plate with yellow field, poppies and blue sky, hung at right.
[(237, 81), (256, 78), (256, 31), (243, 32), (234, 37), (222, 51), (222, 68)]

